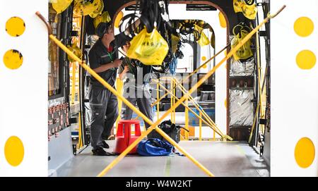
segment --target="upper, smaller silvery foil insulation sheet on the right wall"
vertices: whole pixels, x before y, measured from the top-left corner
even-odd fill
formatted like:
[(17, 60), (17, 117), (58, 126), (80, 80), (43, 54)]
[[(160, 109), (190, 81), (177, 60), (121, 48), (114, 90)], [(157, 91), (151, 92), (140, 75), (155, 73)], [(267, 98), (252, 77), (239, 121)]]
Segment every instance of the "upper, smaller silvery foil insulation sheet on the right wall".
[(231, 58), (230, 76), (251, 76), (254, 74), (255, 61), (254, 58), (242, 62), (240, 60), (235, 61)]

